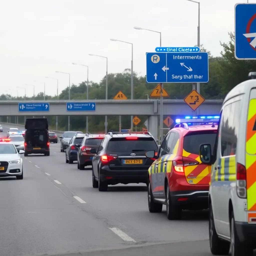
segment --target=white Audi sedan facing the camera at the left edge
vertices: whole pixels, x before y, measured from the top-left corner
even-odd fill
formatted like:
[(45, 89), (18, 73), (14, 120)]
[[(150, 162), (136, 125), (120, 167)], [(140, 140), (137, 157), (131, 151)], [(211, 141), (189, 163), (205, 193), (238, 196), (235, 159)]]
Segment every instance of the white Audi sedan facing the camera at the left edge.
[(20, 154), (12, 142), (0, 142), (0, 178), (16, 176), (17, 179), (23, 179), (23, 161)]

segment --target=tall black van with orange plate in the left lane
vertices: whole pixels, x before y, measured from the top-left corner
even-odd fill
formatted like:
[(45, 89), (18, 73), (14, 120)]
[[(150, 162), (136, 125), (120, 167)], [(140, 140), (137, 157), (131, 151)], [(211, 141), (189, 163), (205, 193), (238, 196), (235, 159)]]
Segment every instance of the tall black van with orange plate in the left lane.
[(46, 118), (27, 118), (25, 124), (24, 156), (28, 154), (50, 155), (48, 121)]

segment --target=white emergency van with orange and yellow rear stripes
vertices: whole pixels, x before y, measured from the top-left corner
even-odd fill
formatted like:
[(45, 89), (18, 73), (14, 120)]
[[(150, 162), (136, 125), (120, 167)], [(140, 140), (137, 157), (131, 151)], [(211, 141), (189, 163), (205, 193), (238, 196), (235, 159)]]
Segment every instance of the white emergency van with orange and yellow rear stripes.
[[(212, 164), (209, 239), (213, 255), (251, 256), (256, 248), (256, 72), (226, 96), (213, 151), (200, 145)], [(213, 152), (212, 155), (211, 152)]]

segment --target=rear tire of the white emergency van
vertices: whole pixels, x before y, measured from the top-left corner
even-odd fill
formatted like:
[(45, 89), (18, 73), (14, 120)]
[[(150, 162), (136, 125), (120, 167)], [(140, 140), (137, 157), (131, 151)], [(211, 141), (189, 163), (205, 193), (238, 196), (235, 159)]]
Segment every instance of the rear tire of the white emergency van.
[(231, 256), (253, 255), (253, 249), (250, 248), (247, 244), (243, 244), (239, 241), (233, 212), (231, 213), (230, 218), (230, 240)]

